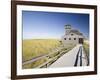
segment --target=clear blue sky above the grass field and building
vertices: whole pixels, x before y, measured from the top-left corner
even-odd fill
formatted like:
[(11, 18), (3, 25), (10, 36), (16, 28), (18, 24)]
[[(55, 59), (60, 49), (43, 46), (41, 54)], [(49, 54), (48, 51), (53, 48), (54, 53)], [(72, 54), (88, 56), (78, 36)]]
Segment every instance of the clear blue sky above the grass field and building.
[(61, 38), (66, 24), (89, 37), (89, 14), (22, 11), (23, 39)]

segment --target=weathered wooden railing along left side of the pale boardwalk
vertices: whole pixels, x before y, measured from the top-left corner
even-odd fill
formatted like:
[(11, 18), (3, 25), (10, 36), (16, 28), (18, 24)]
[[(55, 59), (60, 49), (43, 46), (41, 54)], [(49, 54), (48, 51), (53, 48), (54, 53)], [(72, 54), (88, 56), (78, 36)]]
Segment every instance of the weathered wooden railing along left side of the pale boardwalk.
[[(38, 66), (36, 66), (36, 68), (42, 68), (42, 67), (48, 67), (50, 66), (53, 62), (55, 62), (59, 57), (61, 57), (64, 53), (68, 52), (70, 49), (72, 49), (75, 45), (71, 45), (69, 47), (63, 47), (63, 45), (61, 45), (60, 47), (54, 49), (51, 53), (47, 54), (47, 55), (40, 55), (38, 57), (32, 58), (30, 60), (24, 61), (22, 62), (22, 65), (27, 65), (27, 64), (31, 64), (34, 63), (36, 61), (39, 61), (41, 59), (44, 58), (48, 58), (47, 61), (45, 61), (43, 64), (40, 64)], [(57, 53), (57, 54), (55, 54)], [(55, 55), (53, 57), (51, 57), (52, 55)]]

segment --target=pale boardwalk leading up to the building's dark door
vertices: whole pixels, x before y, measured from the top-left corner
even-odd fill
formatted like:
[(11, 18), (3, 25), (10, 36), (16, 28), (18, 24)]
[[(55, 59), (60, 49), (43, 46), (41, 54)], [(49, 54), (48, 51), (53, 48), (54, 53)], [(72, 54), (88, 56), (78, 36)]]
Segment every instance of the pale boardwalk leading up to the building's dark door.
[(56, 62), (49, 66), (54, 67), (68, 67), (68, 66), (87, 66), (87, 57), (82, 44), (78, 44), (68, 53), (65, 53)]

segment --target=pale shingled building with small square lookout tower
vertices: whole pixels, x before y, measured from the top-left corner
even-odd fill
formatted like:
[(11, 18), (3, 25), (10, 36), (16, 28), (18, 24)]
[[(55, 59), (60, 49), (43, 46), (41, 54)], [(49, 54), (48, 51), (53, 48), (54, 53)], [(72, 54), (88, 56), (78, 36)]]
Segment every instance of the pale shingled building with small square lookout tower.
[(65, 25), (65, 35), (61, 39), (63, 45), (83, 44), (84, 36), (78, 30), (72, 29), (71, 25)]

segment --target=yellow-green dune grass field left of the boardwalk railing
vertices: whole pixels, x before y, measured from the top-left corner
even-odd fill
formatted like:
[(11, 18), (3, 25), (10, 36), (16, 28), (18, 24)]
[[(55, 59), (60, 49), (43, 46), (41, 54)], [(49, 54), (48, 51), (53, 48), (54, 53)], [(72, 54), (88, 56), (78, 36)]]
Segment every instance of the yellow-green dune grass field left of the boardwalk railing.
[[(23, 40), (23, 52), (22, 52), (22, 61), (30, 60), (37, 56), (42, 56), (49, 54), (50, 51), (57, 48), (60, 45), (59, 40), (57, 39), (30, 39)], [(40, 59), (33, 62), (32, 64), (23, 65), (23, 68), (34, 68), (39, 64), (47, 61), (47, 58)]]

